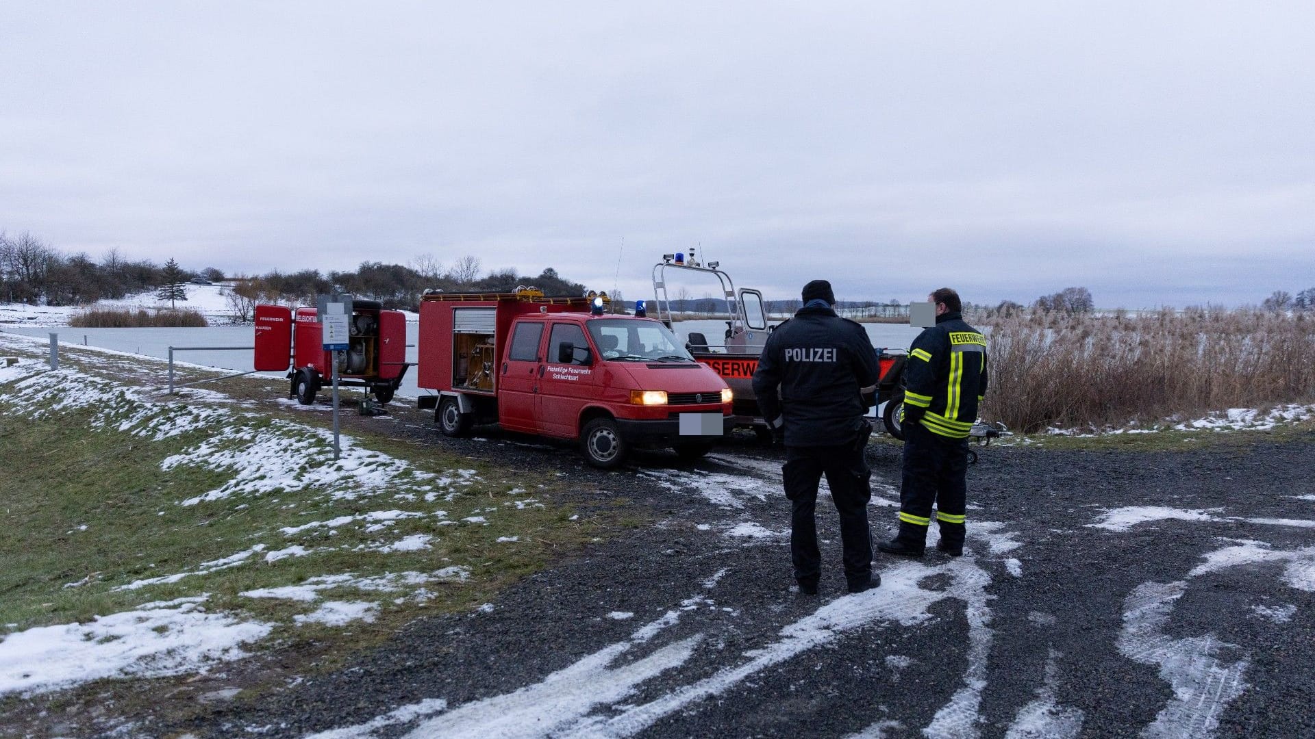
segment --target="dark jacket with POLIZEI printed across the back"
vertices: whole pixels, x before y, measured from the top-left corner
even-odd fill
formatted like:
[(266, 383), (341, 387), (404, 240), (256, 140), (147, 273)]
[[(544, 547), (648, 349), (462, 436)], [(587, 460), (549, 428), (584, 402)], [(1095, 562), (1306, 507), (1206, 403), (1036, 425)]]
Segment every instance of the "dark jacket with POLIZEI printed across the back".
[(802, 308), (768, 337), (753, 394), (768, 423), (784, 419), (788, 446), (846, 444), (867, 413), (859, 389), (880, 372), (863, 326), (830, 308)]

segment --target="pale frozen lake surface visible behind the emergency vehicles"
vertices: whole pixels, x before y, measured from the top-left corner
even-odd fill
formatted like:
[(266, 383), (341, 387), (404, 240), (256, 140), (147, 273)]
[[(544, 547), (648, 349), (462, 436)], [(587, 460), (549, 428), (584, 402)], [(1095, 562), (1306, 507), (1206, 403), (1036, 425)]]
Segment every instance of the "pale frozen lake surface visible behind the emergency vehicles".
[[(772, 323), (778, 323), (773, 320)], [(909, 345), (918, 335), (920, 329), (914, 329), (907, 323), (864, 323), (872, 346), (892, 350), (907, 351)], [(51, 333), (59, 334), (59, 343), (88, 345), (101, 348), (112, 348), (129, 354), (143, 354), (168, 359), (168, 347), (175, 347), (174, 360), (179, 363), (200, 364), (204, 367), (217, 367), (247, 372), (252, 367), (252, 345), (255, 329), (252, 326), (210, 326), (204, 329), (74, 329), (70, 326), (38, 327), (38, 326), (4, 326), (9, 334), (22, 334), (47, 339)], [(715, 347), (726, 334), (725, 321), (677, 321), (676, 335), (681, 343), (689, 341), (689, 333), (702, 333)], [(416, 342), (419, 325), (406, 323), (406, 362), (417, 360)], [(209, 347), (241, 347), (227, 351), (184, 351), (179, 347), (209, 346)], [(281, 372), (262, 372), (263, 376), (281, 377)], [(164, 376), (162, 370), (160, 376)], [(406, 377), (398, 397), (418, 397), (422, 394), (416, 385), (416, 368), (406, 371)]]

